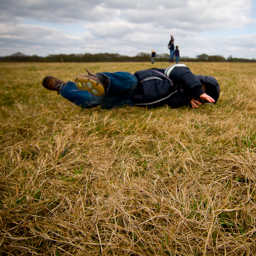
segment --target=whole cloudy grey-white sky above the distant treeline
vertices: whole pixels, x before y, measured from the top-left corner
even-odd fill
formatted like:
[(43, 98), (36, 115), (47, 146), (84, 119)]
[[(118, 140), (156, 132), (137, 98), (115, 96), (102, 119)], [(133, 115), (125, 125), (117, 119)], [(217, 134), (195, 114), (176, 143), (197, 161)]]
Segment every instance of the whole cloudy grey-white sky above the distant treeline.
[(256, 58), (256, 0), (1, 0), (0, 56), (168, 53)]

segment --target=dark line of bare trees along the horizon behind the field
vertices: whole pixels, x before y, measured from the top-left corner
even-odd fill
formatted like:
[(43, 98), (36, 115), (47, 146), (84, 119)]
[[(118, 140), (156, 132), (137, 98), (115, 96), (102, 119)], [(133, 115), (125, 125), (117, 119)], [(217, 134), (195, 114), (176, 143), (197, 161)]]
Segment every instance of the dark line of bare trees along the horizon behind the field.
[[(37, 55), (29, 56), (20, 52), (10, 56), (0, 57), (0, 62), (147, 62), (151, 61), (151, 54), (140, 52), (134, 57), (120, 55), (118, 53), (85, 53), (85, 54), (50, 54), (46, 57)], [(156, 54), (155, 61), (169, 61), (167, 53)], [(209, 56), (207, 54), (197, 55), (196, 58), (181, 57), (179, 62), (256, 62), (255, 58), (224, 58), (221, 55)]]

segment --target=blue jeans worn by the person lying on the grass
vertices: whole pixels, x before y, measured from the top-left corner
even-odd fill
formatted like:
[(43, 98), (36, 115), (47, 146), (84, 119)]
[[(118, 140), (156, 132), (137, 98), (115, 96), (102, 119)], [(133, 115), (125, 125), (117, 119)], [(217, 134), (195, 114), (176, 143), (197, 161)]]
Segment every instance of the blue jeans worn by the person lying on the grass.
[(86, 90), (78, 89), (74, 82), (68, 81), (60, 89), (60, 95), (75, 105), (91, 108), (100, 105), (103, 109), (111, 109), (120, 105), (133, 105), (132, 92), (137, 87), (137, 78), (128, 72), (102, 72), (108, 78), (108, 88), (103, 96), (95, 96)]

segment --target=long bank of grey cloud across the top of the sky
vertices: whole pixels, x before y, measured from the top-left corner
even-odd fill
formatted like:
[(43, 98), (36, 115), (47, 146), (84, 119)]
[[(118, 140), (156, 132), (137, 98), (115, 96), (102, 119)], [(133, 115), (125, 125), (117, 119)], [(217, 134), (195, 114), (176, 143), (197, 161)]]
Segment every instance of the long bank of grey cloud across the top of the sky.
[(2, 0), (0, 20), (19, 18), (53, 23), (128, 21), (193, 31), (243, 27), (255, 20), (246, 17), (250, 0)]

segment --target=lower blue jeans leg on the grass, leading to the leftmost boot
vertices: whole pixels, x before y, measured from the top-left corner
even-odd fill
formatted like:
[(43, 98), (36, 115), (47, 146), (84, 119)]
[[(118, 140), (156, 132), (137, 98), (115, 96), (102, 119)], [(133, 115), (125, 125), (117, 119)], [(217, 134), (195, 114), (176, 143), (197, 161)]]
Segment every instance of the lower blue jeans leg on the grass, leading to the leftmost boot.
[(86, 90), (78, 89), (72, 81), (68, 81), (64, 84), (59, 93), (62, 97), (82, 108), (96, 107), (100, 104), (100, 97), (95, 96)]

